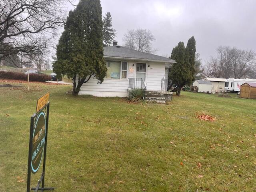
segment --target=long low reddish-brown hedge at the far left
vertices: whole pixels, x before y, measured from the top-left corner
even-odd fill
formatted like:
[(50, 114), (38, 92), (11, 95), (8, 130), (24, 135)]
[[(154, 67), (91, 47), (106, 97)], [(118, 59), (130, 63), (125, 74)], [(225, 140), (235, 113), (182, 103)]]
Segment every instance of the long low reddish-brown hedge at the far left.
[[(27, 80), (28, 75), (19, 72), (0, 71), (0, 78), (14, 79), (14, 80)], [(46, 82), (50, 81), (51, 77), (46, 74), (29, 74), (30, 81)]]

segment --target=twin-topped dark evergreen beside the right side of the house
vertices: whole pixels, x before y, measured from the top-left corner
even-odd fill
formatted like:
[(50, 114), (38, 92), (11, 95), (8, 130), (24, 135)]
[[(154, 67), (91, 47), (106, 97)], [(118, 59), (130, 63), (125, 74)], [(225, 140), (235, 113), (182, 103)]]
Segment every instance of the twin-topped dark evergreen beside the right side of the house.
[(176, 84), (173, 92), (180, 95), (182, 87), (186, 84), (191, 84), (195, 74), (195, 54), (196, 41), (194, 37), (188, 40), (185, 48), (184, 42), (179, 42), (178, 46), (173, 48), (171, 58), (176, 60), (169, 72), (169, 78), (173, 84)]

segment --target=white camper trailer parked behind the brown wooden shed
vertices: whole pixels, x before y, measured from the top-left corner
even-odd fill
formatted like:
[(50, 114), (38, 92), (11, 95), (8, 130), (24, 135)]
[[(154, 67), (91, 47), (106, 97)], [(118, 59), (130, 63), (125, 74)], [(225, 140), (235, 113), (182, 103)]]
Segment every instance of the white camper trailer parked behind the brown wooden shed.
[(228, 82), (225, 83), (225, 90), (230, 92), (240, 92), (240, 86), (244, 83), (254, 83), (256, 79), (227, 79)]

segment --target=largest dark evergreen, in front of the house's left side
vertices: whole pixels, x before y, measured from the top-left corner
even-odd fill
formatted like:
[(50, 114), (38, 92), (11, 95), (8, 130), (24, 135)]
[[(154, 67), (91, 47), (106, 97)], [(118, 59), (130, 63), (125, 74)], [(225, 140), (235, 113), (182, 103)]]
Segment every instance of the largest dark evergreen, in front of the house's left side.
[(57, 76), (67, 75), (73, 79), (73, 95), (78, 95), (82, 84), (92, 76), (99, 83), (106, 76), (102, 26), (100, 0), (80, 0), (76, 9), (69, 12), (53, 70)]

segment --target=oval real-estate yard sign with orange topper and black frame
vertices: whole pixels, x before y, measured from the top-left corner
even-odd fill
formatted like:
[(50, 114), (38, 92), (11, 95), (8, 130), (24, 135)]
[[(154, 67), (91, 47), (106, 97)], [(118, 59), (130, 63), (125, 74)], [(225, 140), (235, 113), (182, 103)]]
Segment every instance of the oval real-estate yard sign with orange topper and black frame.
[[(46, 147), (49, 122), (49, 92), (37, 100), (36, 113), (30, 118), (30, 137), (28, 150), (28, 179), (27, 192), (34, 190), (54, 190), (54, 188), (44, 187), (45, 166), (46, 166)], [(41, 162), (43, 161), (43, 170), (38, 184), (35, 188), (30, 189), (31, 173), (38, 172)], [(40, 187), (40, 184), (42, 186)]]

